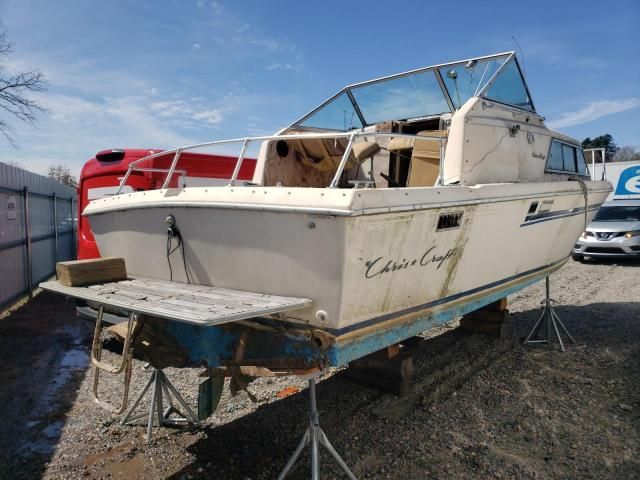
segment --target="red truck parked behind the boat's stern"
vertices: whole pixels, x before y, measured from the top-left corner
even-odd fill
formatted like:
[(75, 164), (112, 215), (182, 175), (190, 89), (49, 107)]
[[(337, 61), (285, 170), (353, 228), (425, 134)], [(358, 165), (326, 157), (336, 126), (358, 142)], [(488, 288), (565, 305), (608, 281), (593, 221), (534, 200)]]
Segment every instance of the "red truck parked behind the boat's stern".
[[(82, 216), (82, 211), (87, 204), (91, 200), (115, 194), (131, 162), (160, 151), (162, 150), (130, 148), (103, 150), (84, 164), (78, 185), (78, 259), (100, 256), (89, 222)], [(122, 193), (160, 188), (173, 156), (173, 153), (167, 153), (166, 156), (161, 155), (139, 163), (137, 167), (147, 171), (131, 172)], [(236, 161), (236, 157), (183, 152), (170, 186), (226, 185), (231, 178)], [(245, 158), (238, 179), (250, 181), (255, 166), (255, 159)], [(159, 171), (155, 171), (156, 169)]]

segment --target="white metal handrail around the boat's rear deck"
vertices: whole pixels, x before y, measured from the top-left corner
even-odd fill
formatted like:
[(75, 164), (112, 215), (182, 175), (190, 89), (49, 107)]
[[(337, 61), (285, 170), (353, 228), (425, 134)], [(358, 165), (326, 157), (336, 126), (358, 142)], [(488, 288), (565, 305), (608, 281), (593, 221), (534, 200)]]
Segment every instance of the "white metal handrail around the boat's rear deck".
[[(298, 134), (280, 134), (280, 135), (262, 135), (262, 136), (256, 136), (256, 137), (242, 137), (242, 138), (231, 138), (228, 140), (214, 140), (212, 142), (204, 142), (204, 143), (196, 143), (193, 145), (187, 145), (184, 147), (177, 147), (171, 150), (163, 150), (161, 152), (157, 152), (154, 153), (152, 155), (147, 155), (146, 157), (142, 157), (134, 162), (131, 162), (129, 164), (129, 168), (127, 169), (127, 173), (125, 173), (124, 177), (122, 177), (122, 180), (120, 181), (120, 185), (118, 185), (118, 189), (116, 190), (115, 195), (120, 194), (120, 192), (122, 191), (122, 188), (126, 185), (127, 180), (129, 179), (129, 176), (131, 175), (131, 172), (133, 170), (137, 170), (135, 167), (137, 164), (144, 162), (146, 160), (151, 160), (153, 158), (158, 158), (161, 156), (165, 156), (168, 154), (173, 153), (173, 160), (171, 162), (171, 166), (169, 167), (169, 171), (167, 173), (167, 178), (164, 181), (164, 184), (162, 185), (162, 188), (168, 188), (169, 187), (169, 183), (171, 182), (171, 178), (173, 177), (173, 174), (175, 173), (176, 170), (176, 165), (180, 159), (180, 155), (182, 154), (182, 152), (185, 152), (187, 150), (195, 150), (195, 149), (199, 149), (199, 148), (205, 148), (205, 147), (212, 147), (212, 146), (217, 146), (217, 145), (228, 145), (231, 143), (242, 143), (242, 150), (240, 152), (240, 155), (238, 155), (238, 158), (236, 160), (236, 165), (233, 171), (233, 175), (230, 179), (229, 185), (233, 186), (235, 184), (235, 181), (237, 180), (238, 174), (240, 173), (240, 167), (242, 166), (242, 161), (244, 160), (244, 155), (246, 153), (246, 150), (249, 146), (250, 143), (252, 142), (256, 142), (256, 141), (267, 141), (267, 140), (305, 140), (305, 139), (322, 139), (322, 138), (347, 138), (349, 139), (349, 143), (347, 144), (347, 148), (345, 149), (344, 154), (342, 155), (342, 158), (340, 160), (340, 163), (338, 165), (338, 169), (336, 170), (336, 174), (334, 175), (333, 179), (331, 180), (331, 183), (329, 184), (329, 187), (335, 188), (335, 186), (338, 184), (338, 181), (340, 179), (340, 176), (342, 175), (342, 172), (344, 170), (344, 167), (347, 164), (347, 160), (349, 158), (349, 154), (351, 153), (351, 148), (353, 147), (353, 142), (360, 137), (373, 137), (373, 138), (411, 138), (411, 139), (418, 139), (418, 140), (427, 140), (427, 141), (434, 141), (434, 142), (440, 142), (441, 144), (441, 154), (440, 154), (440, 172), (442, 173), (442, 167), (443, 167), (443, 156), (444, 156), (444, 140), (446, 140), (446, 136), (443, 135), (428, 135), (428, 134), (421, 134), (421, 135), (409, 135), (406, 133), (380, 133), (380, 132), (344, 132), (344, 133), (336, 133), (336, 132), (327, 132), (327, 133), (298, 133)], [(441, 181), (441, 180), (440, 180)]]

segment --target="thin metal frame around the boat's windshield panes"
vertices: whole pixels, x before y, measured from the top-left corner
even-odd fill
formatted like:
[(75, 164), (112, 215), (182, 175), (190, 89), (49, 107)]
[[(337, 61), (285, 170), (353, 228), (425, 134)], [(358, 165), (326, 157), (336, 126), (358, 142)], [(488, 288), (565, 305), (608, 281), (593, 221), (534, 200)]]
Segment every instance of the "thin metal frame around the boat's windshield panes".
[[(533, 108), (533, 111), (527, 110), (527, 109), (522, 109), (516, 105), (508, 105), (509, 107), (518, 109), (518, 110), (522, 110), (527, 112), (530, 115), (535, 115), (535, 116), (539, 116), (538, 113), (535, 110), (535, 105), (533, 103), (533, 99), (531, 98), (531, 93), (529, 91), (529, 86), (527, 85), (527, 81), (524, 78), (524, 75), (522, 73), (522, 69), (520, 68), (520, 64), (518, 63), (518, 60), (516, 58), (516, 53), (514, 51), (508, 51), (508, 52), (501, 52), (501, 53), (495, 53), (492, 55), (485, 55), (482, 57), (474, 57), (474, 58), (469, 58), (466, 60), (457, 60), (455, 62), (446, 62), (446, 63), (442, 63), (442, 64), (437, 64), (437, 65), (431, 65), (428, 67), (421, 67), (421, 68), (416, 68), (413, 70), (408, 70), (406, 72), (401, 72), (401, 73), (396, 73), (393, 75), (386, 75), (383, 77), (378, 77), (378, 78), (374, 78), (371, 80), (366, 80), (364, 82), (358, 82), (358, 83), (353, 83), (350, 85), (347, 85), (345, 87), (343, 87), (341, 90), (339, 90), (338, 92), (336, 92), (334, 95), (332, 95), (331, 97), (329, 97), (327, 100), (325, 100), (324, 102), (322, 102), (320, 105), (318, 105), (317, 107), (315, 107), (313, 110), (309, 111), (308, 113), (306, 113), (305, 115), (303, 115), (302, 117), (298, 118), (295, 122), (293, 122), (291, 125), (289, 125), (289, 127), (287, 127), (284, 131), (288, 131), (290, 129), (302, 129), (302, 130), (308, 130), (310, 128), (313, 128), (314, 130), (324, 130), (324, 131), (344, 131), (342, 129), (334, 129), (334, 128), (321, 128), (321, 127), (310, 127), (307, 125), (303, 125), (305, 121), (307, 121), (310, 117), (312, 117), (313, 115), (315, 115), (318, 111), (320, 111), (321, 109), (325, 108), (327, 105), (329, 105), (332, 101), (334, 101), (335, 99), (337, 99), (340, 95), (345, 94), (346, 97), (350, 100), (351, 105), (353, 107), (353, 110), (355, 111), (358, 119), (360, 120), (360, 123), (362, 124), (361, 128), (357, 128), (357, 127), (353, 127), (351, 130), (359, 130), (359, 129), (364, 129), (366, 127), (370, 127), (372, 125), (376, 125), (376, 123), (368, 123), (366, 121), (366, 118), (362, 112), (362, 110), (360, 109), (360, 106), (358, 105), (358, 102), (355, 100), (355, 97), (353, 95), (353, 90), (354, 89), (358, 89), (361, 87), (366, 87), (369, 85), (374, 85), (374, 84), (378, 84), (378, 83), (383, 83), (383, 82), (387, 82), (390, 80), (395, 80), (395, 79), (399, 79), (402, 77), (406, 77), (406, 76), (410, 76), (410, 75), (416, 75), (416, 74), (420, 74), (420, 73), (425, 73), (428, 71), (432, 71), (435, 79), (437, 80), (438, 86), (440, 87), (441, 93), (443, 95), (443, 98), (446, 102), (446, 104), (449, 107), (449, 111), (448, 112), (439, 112), (439, 113), (435, 113), (435, 114), (427, 114), (427, 115), (423, 115), (420, 117), (410, 117), (410, 118), (406, 118), (406, 119), (389, 119), (389, 120), (414, 120), (416, 118), (429, 118), (432, 116), (438, 116), (438, 115), (442, 115), (443, 113), (454, 113), (455, 111), (458, 110), (458, 108), (455, 107), (454, 102), (452, 101), (449, 91), (445, 85), (445, 82), (442, 78), (442, 75), (440, 73), (440, 69), (442, 68), (446, 68), (446, 67), (450, 67), (450, 66), (454, 66), (454, 65), (459, 65), (459, 64), (466, 64), (468, 62), (471, 61), (483, 61), (483, 60), (491, 60), (491, 59), (496, 59), (496, 58), (500, 58), (500, 57), (504, 57), (504, 61), (502, 63), (502, 65), (500, 65), (500, 67), (493, 73), (493, 75), (491, 76), (491, 78), (484, 84), (484, 86), (482, 87), (482, 89), (480, 91), (477, 92), (476, 96), (477, 97), (484, 97), (484, 94), (487, 92), (487, 90), (489, 88), (491, 88), (491, 85), (493, 85), (493, 83), (495, 82), (496, 78), (498, 77), (498, 75), (500, 74), (500, 72), (502, 72), (505, 68), (505, 66), (511, 61), (513, 60), (516, 63), (517, 69), (518, 69), (518, 73), (520, 74), (520, 77), (522, 79), (525, 91), (529, 97), (529, 100), (531, 102), (531, 106)], [(497, 100), (491, 100), (491, 99), (487, 99), (489, 101), (492, 102), (496, 102), (496, 103), (500, 103), (502, 104), (502, 102), (499, 102)], [(379, 123), (379, 122), (378, 122)]]

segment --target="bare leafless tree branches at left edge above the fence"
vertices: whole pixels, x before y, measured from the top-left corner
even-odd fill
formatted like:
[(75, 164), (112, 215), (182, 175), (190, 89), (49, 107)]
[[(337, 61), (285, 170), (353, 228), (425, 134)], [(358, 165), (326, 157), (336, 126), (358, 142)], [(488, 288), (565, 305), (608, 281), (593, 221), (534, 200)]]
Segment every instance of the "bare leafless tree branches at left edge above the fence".
[[(5, 74), (2, 62), (11, 52), (13, 52), (13, 43), (0, 24), (0, 111), (23, 122), (33, 123), (36, 120), (36, 114), (46, 112), (46, 109), (30, 99), (29, 94), (46, 90), (47, 82), (39, 70)], [(13, 128), (7, 120), (2, 118), (0, 118), (0, 133), (12, 146), (16, 147)]]

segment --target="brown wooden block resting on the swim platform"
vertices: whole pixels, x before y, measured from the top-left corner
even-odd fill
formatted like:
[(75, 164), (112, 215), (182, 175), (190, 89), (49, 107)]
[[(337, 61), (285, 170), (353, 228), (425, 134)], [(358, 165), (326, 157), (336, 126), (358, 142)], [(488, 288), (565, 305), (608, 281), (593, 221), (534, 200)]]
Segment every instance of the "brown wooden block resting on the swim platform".
[(117, 282), (127, 279), (124, 258), (106, 257), (90, 260), (72, 260), (56, 264), (58, 281), (67, 287), (80, 287), (92, 283)]

